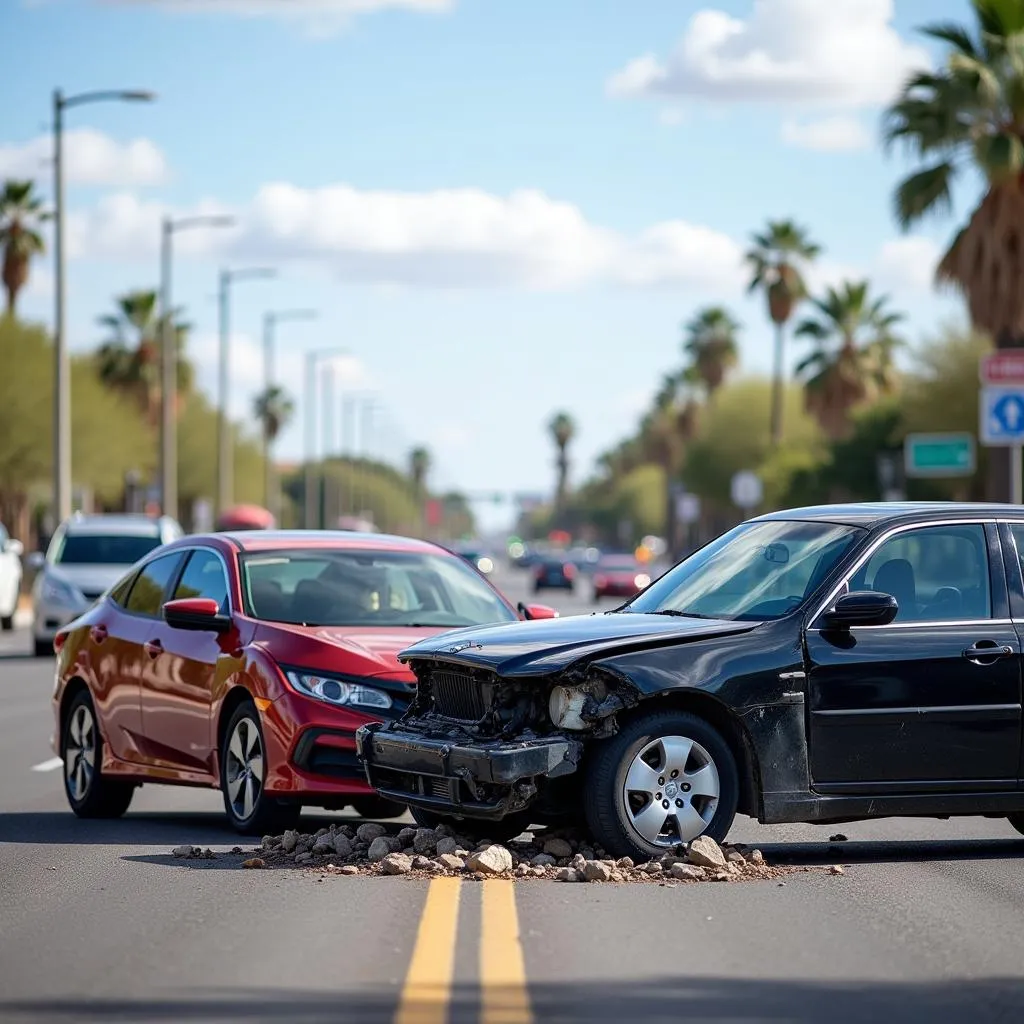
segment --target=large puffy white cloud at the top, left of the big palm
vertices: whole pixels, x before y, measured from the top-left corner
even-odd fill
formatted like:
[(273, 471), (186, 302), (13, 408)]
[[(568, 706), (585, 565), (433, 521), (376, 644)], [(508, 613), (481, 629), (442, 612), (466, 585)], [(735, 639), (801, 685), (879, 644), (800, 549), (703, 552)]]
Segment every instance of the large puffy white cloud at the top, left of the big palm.
[(748, 18), (705, 9), (666, 58), (630, 61), (608, 81), (625, 96), (871, 106), (927, 67), (892, 22), (894, 0), (754, 0)]

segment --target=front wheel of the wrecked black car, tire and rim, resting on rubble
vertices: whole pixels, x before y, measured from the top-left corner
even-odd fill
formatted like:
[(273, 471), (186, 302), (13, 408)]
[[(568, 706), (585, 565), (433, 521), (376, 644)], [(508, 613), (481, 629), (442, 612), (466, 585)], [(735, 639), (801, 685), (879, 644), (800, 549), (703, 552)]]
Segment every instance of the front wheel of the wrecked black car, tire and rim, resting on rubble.
[[(636, 785), (628, 793), (631, 769)], [(703, 771), (699, 781), (676, 781), (677, 777), (692, 778), (698, 771)], [(707, 793), (691, 797), (683, 784)], [(697, 836), (721, 842), (732, 826), (738, 801), (739, 772), (729, 744), (714, 726), (688, 712), (658, 711), (635, 719), (595, 746), (587, 766), (584, 810), (594, 839), (616, 857), (638, 862)], [(665, 802), (670, 804), (668, 809)], [(644, 836), (639, 830), (643, 822), (640, 826), (634, 822), (641, 811), (657, 803), (666, 812), (660, 819), (664, 825), (658, 834), (653, 833), (659, 820), (654, 812)], [(677, 809), (679, 818), (674, 813)]]

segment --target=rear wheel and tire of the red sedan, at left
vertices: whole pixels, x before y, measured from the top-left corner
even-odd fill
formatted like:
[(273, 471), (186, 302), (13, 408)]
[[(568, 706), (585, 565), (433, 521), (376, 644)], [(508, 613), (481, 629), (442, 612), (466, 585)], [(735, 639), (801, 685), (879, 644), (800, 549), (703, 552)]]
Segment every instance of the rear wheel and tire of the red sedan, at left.
[(80, 818), (120, 818), (135, 794), (133, 782), (102, 773), (103, 738), (92, 697), (81, 690), (72, 697), (60, 726), (65, 795)]

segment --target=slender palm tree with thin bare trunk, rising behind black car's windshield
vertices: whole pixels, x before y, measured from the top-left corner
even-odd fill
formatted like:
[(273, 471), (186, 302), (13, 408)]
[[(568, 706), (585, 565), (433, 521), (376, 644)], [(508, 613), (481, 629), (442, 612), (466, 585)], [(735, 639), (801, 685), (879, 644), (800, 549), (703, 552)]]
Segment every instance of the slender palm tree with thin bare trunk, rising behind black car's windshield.
[(772, 374), (771, 440), (782, 440), (782, 376), (785, 326), (797, 306), (807, 297), (803, 268), (821, 252), (807, 232), (792, 220), (770, 220), (765, 230), (754, 236), (754, 248), (746, 254), (753, 270), (750, 292), (759, 289), (768, 300), (768, 315), (775, 325), (775, 366)]

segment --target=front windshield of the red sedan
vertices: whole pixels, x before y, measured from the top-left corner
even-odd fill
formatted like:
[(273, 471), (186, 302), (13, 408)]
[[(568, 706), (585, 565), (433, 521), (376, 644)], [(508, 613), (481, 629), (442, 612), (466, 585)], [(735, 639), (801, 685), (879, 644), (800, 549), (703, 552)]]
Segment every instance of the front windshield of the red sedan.
[(515, 622), (461, 558), (407, 551), (299, 548), (242, 556), (256, 618), (305, 626), (440, 627)]

